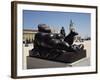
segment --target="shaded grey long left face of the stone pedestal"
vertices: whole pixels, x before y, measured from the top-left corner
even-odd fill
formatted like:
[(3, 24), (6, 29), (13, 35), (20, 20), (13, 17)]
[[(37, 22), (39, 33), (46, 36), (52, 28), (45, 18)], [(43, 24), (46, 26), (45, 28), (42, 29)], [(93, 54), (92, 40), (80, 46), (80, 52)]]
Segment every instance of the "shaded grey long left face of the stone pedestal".
[(66, 67), (66, 66), (71, 66), (71, 65), (67, 63), (55, 62), (55, 61), (27, 56), (27, 69), (55, 68), (55, 67)]

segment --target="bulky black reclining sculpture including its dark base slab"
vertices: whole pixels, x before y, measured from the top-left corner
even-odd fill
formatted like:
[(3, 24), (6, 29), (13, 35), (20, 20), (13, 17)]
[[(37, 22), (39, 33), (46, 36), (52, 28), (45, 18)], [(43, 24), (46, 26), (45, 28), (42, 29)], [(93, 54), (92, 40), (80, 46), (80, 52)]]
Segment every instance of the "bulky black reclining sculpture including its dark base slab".
[(68, 63), (86, 57), (84, 45), (73, 45), (76, 35), (78, 35), (77, 32), (70, 31), (64, 37), (60, 33), (52, 33), (46, 24), (39, 24), (34, 48), (29, 51), (29, 56)]

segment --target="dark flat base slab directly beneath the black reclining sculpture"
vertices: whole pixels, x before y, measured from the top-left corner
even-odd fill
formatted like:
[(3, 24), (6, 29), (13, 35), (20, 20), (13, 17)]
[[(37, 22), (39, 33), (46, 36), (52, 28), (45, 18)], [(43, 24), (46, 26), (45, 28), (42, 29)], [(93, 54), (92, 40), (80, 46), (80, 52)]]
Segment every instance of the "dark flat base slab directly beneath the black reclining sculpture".
[(64, 53), (61, 53), (60, 55), (56, 56), (55, 58), (53, 58), (52, 55), (51, 55), (51, 57), (41, 57), (37, 52), (33, 53), (33, 51), (30, 50), (29, 56), (34, 57), (34, 58), (39, 58), (39, 59), (62, 62), (62, 63), (73, 63), (77, 60), (85, 58), (86, 57), (86, 50), (81, 50), (78, 53), (76, 53), (76, 52), (64, 52)]

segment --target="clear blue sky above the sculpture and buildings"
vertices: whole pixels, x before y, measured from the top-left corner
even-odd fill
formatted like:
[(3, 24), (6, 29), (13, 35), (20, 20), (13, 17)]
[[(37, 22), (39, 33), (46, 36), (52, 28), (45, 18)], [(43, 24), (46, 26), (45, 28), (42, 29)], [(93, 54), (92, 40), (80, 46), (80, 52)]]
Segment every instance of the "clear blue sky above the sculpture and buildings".
[(82, 37), (90, 36), (91, 14), (89, 13), (23, 10), (24, 29), (37, 29), (38, 24), (44, 23), (58, 30), (63, 26), (67, 34), (70, 20), (73, 21), (76, 31)]

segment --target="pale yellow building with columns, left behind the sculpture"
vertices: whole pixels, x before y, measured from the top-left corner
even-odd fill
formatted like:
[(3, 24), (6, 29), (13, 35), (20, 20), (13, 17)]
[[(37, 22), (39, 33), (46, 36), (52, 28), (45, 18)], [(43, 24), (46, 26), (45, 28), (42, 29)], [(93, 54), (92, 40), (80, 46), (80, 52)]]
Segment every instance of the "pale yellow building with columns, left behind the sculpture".
[(28, 40), (32, 42), (37, 32), (38, 30), (24, 29), (23, 30), (23, 41), (26, 42)]

